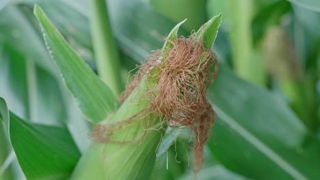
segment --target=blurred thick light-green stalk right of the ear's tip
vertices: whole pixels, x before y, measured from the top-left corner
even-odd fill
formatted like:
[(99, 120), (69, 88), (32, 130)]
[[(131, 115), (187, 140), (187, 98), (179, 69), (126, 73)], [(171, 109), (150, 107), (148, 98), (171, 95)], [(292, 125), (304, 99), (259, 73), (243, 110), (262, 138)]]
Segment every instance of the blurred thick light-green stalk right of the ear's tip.
[(235, 72), (256, 85), (265, 84), (265, 71), (262, 59), (255, 56), (252, 45), (252, 8), (253, 1), (230, 3), (230, 41), (232, 46)]

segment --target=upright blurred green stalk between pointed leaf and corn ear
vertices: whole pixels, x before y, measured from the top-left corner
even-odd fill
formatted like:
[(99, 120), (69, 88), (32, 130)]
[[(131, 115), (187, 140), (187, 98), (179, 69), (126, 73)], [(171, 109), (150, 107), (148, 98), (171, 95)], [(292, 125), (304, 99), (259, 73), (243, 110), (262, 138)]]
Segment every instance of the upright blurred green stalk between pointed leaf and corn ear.
[(110, 89), (119, 95), (122, 91), (120, 59), (112, 35), (105, 0), (91, 2), (91, 28), (98, 74)]

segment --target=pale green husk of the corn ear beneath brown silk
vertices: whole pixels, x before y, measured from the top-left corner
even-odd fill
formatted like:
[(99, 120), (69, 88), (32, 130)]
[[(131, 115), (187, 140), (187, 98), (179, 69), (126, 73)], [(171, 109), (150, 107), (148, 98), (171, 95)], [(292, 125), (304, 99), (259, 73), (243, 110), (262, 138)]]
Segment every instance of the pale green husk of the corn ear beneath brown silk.
[[(221, 16), (215, 18), (215, 20), (221, 22)], [(172, 29), (164, 43), (163, 50), (171, 48), (172, 44), (169, 41), (177, 37), (178, 28), (184, 22), (185, 20)], [(202, 34), (207, 34), (206, 31), (213, 27), (217, 29), (216, 27), (219, 27), (217, 24), (219, 23), (209, 23), (210, 28), (204, 25)], [(217, 31), (211, 33), (214, 37), (216, 34)], [(202, 37), (207, 36), (201, 35), (200, 38)], [(207, 44), (212, 45), (214, 38), (209, 39), (210, 41)], [(122, 106), (107, 123), (125, 121), (148, 108), (149, 100), (146, 93), (155, 85), (157, 85), (157, 82), (149, 80), (148, 75), (144, 76), (138, 87), (126, 98)], [(143, 125), (146, 125), (146, 123), (148, 123), (148, 127), (151, 125), (153, 130), (144, 130)], [(150, 113), (146, 116), (139, 114), (135, 120), (131, 121), (129, 126), (123, 125), (110, 136), (112, 141), (129, 143), (106, 142), (102, 144), (93, 142), (88, 151), (81, 157), (70, 179), (149, 179), (155, 164), (156, 150), (164, 134), (164, 130), (160, 129), (160, 126), (159, 117)], [(140, 138), (143, 138), (141, 144), (130, 143), (136, 142)]]

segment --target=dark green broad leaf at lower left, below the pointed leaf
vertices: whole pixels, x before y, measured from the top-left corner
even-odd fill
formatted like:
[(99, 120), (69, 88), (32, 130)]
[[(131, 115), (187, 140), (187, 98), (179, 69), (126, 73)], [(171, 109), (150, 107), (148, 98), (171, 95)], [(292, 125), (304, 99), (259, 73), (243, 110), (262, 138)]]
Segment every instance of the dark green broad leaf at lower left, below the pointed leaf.
[(66, 179), (80, 152), (65, 127), (27, 123), (10, 113), (10, 141), (27, 179)]

